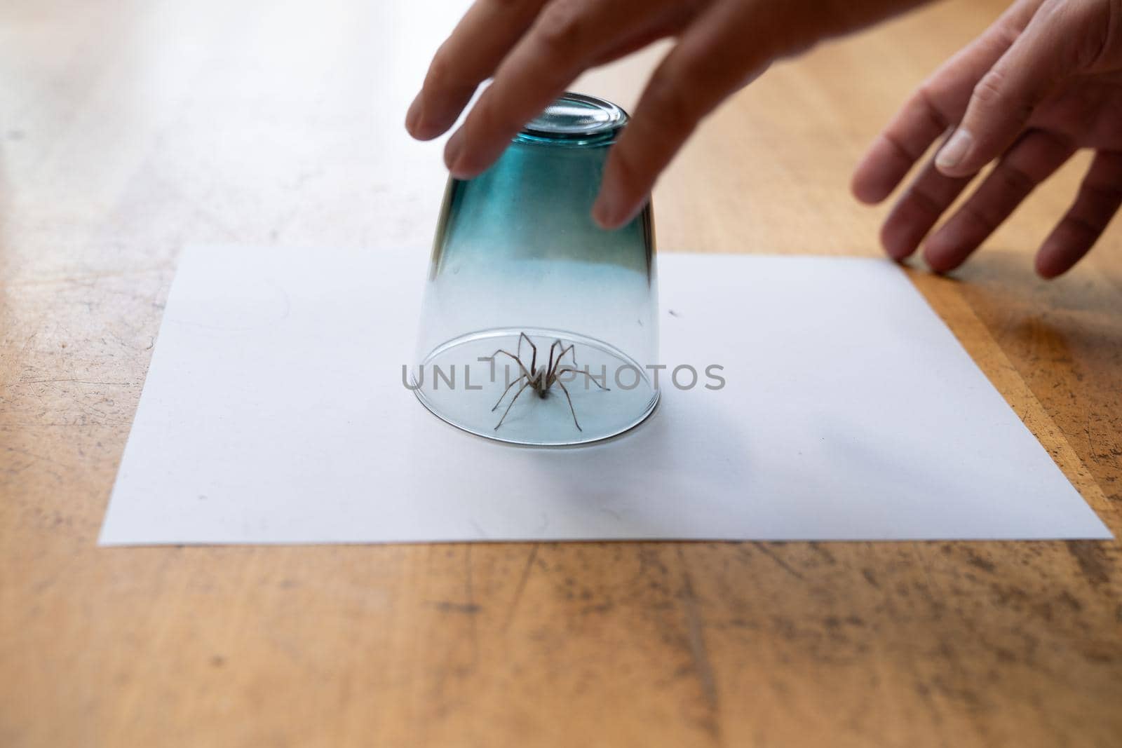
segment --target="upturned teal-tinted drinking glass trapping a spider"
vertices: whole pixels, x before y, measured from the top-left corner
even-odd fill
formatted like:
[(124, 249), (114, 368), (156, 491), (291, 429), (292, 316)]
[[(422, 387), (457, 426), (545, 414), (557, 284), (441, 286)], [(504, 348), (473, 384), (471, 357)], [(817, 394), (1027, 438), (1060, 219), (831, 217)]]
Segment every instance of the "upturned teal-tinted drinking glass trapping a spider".
[(659, 401), (650, 203), (591, 219), (617, 105), (567, 93), (488, 170), (450, 178), (425, 284), (411, 386), (436, 416), (517, 444), (607, 438)]

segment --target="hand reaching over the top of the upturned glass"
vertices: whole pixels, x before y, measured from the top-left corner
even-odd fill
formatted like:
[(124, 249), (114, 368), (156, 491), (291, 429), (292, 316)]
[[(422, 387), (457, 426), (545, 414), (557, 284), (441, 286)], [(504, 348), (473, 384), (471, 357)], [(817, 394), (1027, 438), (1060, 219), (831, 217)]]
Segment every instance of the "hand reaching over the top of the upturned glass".
[(432, 61), (406, 128), (427, 140), (456, 122), (494, 76), (444, 149), (470, 178), (588, 68), (652, 41), (678, 41), (611, 148), (594, 218), (627, 223), (698, 122), (767, 65), (922, 0), (477, 0)]

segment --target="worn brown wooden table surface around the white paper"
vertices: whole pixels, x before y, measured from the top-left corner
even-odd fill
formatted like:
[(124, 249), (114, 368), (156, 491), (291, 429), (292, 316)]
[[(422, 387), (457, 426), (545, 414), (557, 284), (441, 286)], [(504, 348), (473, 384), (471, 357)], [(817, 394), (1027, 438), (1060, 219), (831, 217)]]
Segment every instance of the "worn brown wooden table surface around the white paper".
[[(849, 170), (1001, 4), (778, 65), (665, 175), (662, 249), (876, 255)], [(95, 547), (185, 242), (429, 240), (399, 121), (456, 17), (0, 6), (0, 746), (1122, 744), (1118, 543)], [(1030, 262), (1079, 176), (911, 277), (1120, 533), (1122, 227)]]

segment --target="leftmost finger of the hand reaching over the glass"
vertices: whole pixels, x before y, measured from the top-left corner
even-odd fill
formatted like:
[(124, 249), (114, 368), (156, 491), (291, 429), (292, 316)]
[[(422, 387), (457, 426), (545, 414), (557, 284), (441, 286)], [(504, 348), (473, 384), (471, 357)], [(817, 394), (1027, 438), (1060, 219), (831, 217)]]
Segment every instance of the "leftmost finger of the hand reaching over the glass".
[(405, 128), (421, 140), (444, 132), (533, 24), (545, 0), (477, 0), (429, 65)]

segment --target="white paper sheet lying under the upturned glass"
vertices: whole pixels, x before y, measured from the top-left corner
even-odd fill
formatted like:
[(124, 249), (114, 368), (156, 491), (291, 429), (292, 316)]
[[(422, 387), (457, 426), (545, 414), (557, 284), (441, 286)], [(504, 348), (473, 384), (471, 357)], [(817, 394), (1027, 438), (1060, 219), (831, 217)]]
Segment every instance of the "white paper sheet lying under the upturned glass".
[(101, 543), (1111, 537), (886, 261), (662, 255), (662, 359), (726, 386), (561, 450), (403, 387), (425, 261), (188, 248)]

